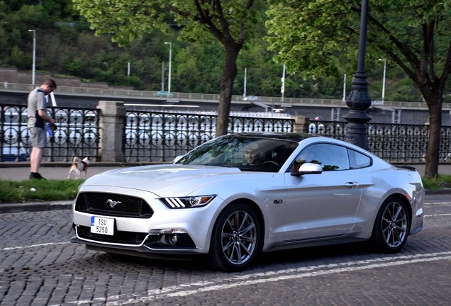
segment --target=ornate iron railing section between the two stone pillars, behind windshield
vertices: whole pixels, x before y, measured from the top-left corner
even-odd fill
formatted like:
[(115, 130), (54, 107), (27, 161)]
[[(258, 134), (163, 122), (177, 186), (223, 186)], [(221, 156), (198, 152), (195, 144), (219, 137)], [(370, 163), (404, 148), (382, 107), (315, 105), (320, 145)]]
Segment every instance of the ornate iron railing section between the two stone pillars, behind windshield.
[[(289, 118), (230, 117), (228, 132), (291, 132)], [(130, 111), (124, 124), (126, 162), (169, 162), (215, 137), (216, 115)]]

